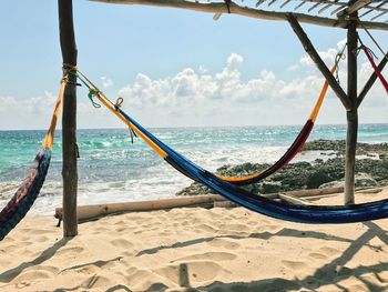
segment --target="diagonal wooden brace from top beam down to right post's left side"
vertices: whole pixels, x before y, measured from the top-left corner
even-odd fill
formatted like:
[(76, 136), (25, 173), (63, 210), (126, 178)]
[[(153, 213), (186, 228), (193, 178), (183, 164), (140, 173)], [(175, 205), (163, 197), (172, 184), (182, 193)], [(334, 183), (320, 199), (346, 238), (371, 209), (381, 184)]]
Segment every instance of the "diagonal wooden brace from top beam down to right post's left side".
[(308, 39), (307, 34), (300, 27), (297, 18), (293, 13), (288, 13), (287, 16), (288, 22), (294, 29), (296, 36), (299, 38), (305, 51), (309, 54), (309, 57), (313, 59), (319, 71), (324, 74), (324, 77), (329, 81), (329, 84), (334, 92), (337, 94), (339, 100), (343, 102), (345, 109), (349, 110), (351, 108), (349, 98), (343, 90), (343, 88), (338, 84), (337, 80), (331, 74), (330, 70), (327, 68), (327, 66), (324, 63), (321, 58), (319, 57), (318, 52), (315, 50), (313, 43)]

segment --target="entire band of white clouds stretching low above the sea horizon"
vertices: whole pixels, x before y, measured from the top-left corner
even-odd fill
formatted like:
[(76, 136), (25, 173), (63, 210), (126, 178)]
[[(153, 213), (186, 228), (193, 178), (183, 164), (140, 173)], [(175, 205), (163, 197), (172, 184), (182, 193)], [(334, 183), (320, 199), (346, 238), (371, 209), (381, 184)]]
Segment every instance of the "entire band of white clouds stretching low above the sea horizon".
[[(336, 53), (336, 49), (320, 52), (328, 66)], [(372, 70), (365, 57), (360, 56), (359, 60), (360, 91)], [(243, 66), (244, 58), (232, 53), (225, 66), (214, 73), (204, 67), (184, 68), (161, 79), (139, 73), (134, 82), (119, 90), (119, 95), (124, 98), (124, 110), (147, 127), (300, 124), (306, 120), (324, 84), (324, 78), (306, 56), (293, 67), (290, 79), (262, 70), (251, 80), (244, 80)], [(339, 78), (346, 89), (345, 62), (340, 64)], [(108, 87), (113, 84), (106, 78), (102, 81)], [(0, 97), (0, 129), (44, 129), (55, 98), (49, 91), (29, 100)], [(360, 108), (360, 121), (387, 122), (387, 110), (388, 98), (377, 80)], [(108, 110), (93, 109), (88, 99), (80, 99), (78, 112), (79, 128), (122, 127)], [(345, 117), (343, 105), (329, 90), (318, 122), (344, 123)]]

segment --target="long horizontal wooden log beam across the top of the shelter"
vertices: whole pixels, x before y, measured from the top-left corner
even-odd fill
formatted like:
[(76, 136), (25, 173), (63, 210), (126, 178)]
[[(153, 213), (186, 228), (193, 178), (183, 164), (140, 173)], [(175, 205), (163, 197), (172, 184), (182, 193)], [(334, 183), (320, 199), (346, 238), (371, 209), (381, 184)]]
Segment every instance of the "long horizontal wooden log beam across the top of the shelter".
[[(151, 7), (170, 7), (178, 9), (188, 9), (207, 13), (228, 13), (228, 9), (225, 3), (221, 2), (201, 2), (190, 0), (89, 0), (93, 2), (103, 2), (111, 4), (129, 4), (129, 6), (151, 6)], [(244, 16), (248, 18), (263, 19), (263, 20), (287, 20), (289, 12), (266, 11), (261, 9), (254, 9), (251, 7), (242, 7), (234, 2), (229, 3), (229, 10), (233, 14)], [(335, 27), (346, 29), (348, 20), (346, 19), (331, 19), (317, 16), (308, 16), (304, 13), (295, 13), (298, 20), (303, 23), (316, 24), (321, 27)], [(385, 22), (371, 22), (363, 21), (363, 26), (367, 29), (388, 30), (388, 23)]]

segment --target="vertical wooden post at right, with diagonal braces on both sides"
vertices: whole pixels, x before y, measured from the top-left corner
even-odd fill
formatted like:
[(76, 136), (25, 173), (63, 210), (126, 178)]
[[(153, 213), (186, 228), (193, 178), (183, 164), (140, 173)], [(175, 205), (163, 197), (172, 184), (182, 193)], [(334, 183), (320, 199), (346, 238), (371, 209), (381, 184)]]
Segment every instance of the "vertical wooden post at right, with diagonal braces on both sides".
[(358, 131), (357, 102), (357, 12), (349, 16), (348, 27), (348, 98), (351, 108), (346, 112), (347, 137), (345, 157), (345, 204), (355, 203), (355, 164)]

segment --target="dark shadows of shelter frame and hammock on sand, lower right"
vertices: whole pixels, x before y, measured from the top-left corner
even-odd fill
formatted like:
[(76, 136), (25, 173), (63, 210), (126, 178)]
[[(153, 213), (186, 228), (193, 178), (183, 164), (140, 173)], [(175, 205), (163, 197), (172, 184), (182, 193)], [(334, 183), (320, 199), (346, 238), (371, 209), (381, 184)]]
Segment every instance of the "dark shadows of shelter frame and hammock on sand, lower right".
[[(234, 236), (234, 235), (222, 235), (222, 236), (214, 236), (214, 238), (204, 238), (204, 239), (196, 239), (192, 241), (186, 242), (177, 242), (175, 244), (172, 244), (170, 246), (159, 246), (155, 249), (144, 250), (141, 251), (137, 256), (141, 256), (142, 254), (152, 254), (156, 253), (160, 250), (163, 249), (174, 249), (174, 248), (183, 248), (191, 244), (196, 244), (201, 242), (207, 242), (212, 241), (216, 238), (231, 238), (231, 239), (243, 239), (243, 238), (259, 238), (259, 239), (269, 239), (270, 236), (304, 236), (304, 238), (317, 238), (317, 239), (324, 239), (324, 240), (335, 240), (335, 241), (341, 241), (341, 242), (349, 242), (350, 245), (343, 252), (340, 256), (333, 260), (331, 262), (320, 266), (316, 270), (316, 272), (313, 275), (308, 275), (305, 279), (294, 279), (294, 280), (286, 280), (282, 278), (273, 278), (273, 279), (265, 279), (265, 280), (257, 280), (257, 281), (251, 281), (251, 282), (232, 282), (232, 283), (223, 283), (219, 281), (215, 281), (208, 285), (205, 286), (192, 286), (188, 281), (188, 271), (187, 265), (185, 269), (182, 269), (181, 264), (180, 266), (180, 283), (182, 286), (182, 291), (213, 291), (213, 292), (223, 292), (223, 291), (290, 291), (290, 290), (303, 290), (303, 291), (317, 291), (317, 289), (333, 284), (335, 285), (339, 291), (349, 291), (347, 288), (339, 284), (340, 281), (346, 280), (350, 276), (357, 278), (360, 282), (363, 282), (369, 291), (385, 291), (381, 289), (381, 285), (375, 285), (374, 283), (369, 282), (367, 279), (363, 278), (365, 274), (375, 274), (377, 279), (379, 279), (378, 273), (382, 271), (388, 270), (388, 262), (381, 262), (375, 265), (359, 265), (355, 269), (346, 268), (346, 263), (348, 263), (353, 256), (364, 246), (369, 246), (371, 249), (378, 250), (376, 246), (372, 246), (368, 244), (368, 242), (377, 236), (385, 244), (388, 245), (388, 234), (387, 231), (382, 230), (380, 226), (378, 226), (374, 222), (365, 222), (365, 226), (368, 229), (365, 233), (363, 233), (358, 239), (351, 241), (348, 239), (339, 238), (329, 235), (323, 232), (315, 232), (315, 231), (297, 231), (297, 230), (290, 230), (290, 229), (283, 229), (279, 232), (276, 232), (274, 234), (270, 234), (268, 232), (264, 233), (253, 233), (248, 236)], [(303, 233), (303, 234), (302, 234)], [(380, 282), (384, 282), (384, 280), (379, 279)], [(388, 283), (387, 283), (388, 286)], [(388, 289), (388, 288), (385, 289)], [(152, 286), (150, 286), (146, 291), (147, 292), (161, 292), (167, 290), (167, 286), (163, 285), (162, 283), (154, 283)], [(180, 290), (181, 291), (181, 290)]]

